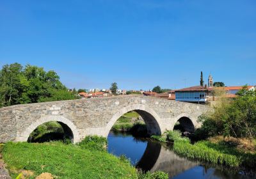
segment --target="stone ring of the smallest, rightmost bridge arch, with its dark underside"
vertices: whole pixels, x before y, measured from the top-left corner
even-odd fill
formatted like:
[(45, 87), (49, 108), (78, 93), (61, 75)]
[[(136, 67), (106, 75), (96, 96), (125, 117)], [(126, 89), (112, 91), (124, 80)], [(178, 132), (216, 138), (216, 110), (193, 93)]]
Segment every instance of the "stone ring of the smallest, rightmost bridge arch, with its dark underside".
[[(191, 117), (189, 114), (182, 113), (177, 118), (175, 118), (175, 123), (179, 121), (180, 126), (184, 128), (186, 132), (195, 132), (196, 127), (198, 126), (198, 122), (196, 119)], [(173, 129), (175, 128), (175, 123), (173, 125)]]

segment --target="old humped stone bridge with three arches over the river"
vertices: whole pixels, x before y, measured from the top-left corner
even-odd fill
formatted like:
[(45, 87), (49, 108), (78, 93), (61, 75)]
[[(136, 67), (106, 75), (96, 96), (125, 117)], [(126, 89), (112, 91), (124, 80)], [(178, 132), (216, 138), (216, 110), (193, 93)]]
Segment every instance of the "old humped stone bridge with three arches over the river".
[(0, 109), (0, 143), (28, 141), (31, 132), (47, 121), (58, 121), (74, 143), (87, 135), (108, 137), (116, 120), (129, 111), (140, 114), (150, 135), (173, 130), (178, 120), (193, 131), (200, 127), (198, 116), (208, 110), (207, 105), (142, 95), (13, 105)]

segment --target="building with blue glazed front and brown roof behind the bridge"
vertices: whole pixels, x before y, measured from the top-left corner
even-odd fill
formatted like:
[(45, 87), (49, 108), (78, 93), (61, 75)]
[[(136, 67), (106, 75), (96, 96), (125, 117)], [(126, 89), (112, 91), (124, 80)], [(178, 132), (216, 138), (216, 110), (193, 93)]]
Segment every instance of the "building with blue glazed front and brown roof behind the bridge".
[(213, 88), (205, 86), (192, 86), (175, 90), (175, 100), (183, 102), (206, 102), (212, 98)]

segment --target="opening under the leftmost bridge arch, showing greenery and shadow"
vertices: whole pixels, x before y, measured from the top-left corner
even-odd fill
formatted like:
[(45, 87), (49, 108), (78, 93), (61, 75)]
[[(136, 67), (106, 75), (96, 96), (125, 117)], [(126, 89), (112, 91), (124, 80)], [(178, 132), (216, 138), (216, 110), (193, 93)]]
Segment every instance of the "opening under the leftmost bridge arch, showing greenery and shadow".
[(63, 141), (74, 143), (74, 134), (67, 124), (61, 121), (47, 121), (29, 134), (29, 143), (45, 143), (50, 141)]

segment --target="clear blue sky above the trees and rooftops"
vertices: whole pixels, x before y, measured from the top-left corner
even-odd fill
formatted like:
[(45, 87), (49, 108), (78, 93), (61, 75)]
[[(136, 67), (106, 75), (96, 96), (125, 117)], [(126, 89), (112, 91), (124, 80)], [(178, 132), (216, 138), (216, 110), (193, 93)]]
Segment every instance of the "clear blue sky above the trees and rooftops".
[(55, 70), (68, 88), (256, 84), (256, 1), (0, 1), (0, 65)]

